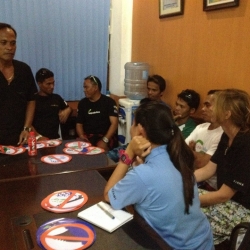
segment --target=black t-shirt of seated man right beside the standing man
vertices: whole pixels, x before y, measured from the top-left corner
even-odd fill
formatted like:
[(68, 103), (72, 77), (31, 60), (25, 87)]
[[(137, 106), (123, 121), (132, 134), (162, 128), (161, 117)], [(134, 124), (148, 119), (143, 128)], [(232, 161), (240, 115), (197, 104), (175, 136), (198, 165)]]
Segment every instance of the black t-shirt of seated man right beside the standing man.
[(59, 116), (60, 110), (68, 107), (68, 104), (60, 95), (51, 94), (48, 96), (35, 95), (36, 109), (33, 126), (42, 136), (49, 139), (59, 138)]

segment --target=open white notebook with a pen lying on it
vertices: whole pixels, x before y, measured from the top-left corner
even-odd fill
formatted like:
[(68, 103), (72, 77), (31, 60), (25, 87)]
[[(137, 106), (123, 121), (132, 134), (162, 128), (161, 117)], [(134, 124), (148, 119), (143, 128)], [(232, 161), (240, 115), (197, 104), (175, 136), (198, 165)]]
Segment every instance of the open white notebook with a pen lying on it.
[(103, 201), (79, 212), (77, 216), (109, 233), (133, 219), (133, 214), (124, 210), (115, 210)]

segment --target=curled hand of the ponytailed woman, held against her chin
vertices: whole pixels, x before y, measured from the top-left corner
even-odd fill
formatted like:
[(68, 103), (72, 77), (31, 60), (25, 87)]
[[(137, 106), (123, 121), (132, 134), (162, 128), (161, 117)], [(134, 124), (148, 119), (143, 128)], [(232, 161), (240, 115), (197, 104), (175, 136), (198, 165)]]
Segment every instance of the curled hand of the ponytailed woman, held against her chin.
[(151, 143), (143, 136), (134, 136), (126, 151), (130, 151), (134, 156), (143, 159), (150, 153)]

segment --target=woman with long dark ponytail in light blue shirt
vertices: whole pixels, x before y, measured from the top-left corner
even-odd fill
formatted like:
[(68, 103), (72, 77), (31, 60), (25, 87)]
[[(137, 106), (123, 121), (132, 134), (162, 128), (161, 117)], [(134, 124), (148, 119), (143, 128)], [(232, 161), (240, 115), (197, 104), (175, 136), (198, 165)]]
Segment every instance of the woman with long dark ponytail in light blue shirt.
[[(133, 204), (174, 249), (214, 249), (209, 222), (200, 210), (193, 153), (169, 108), (155, 102), (140, 105), (131, 136), (105, 187), (105, 200), (114, 209)], [(136, 156), (145, 157), (144, 163), (130, 168)]]

